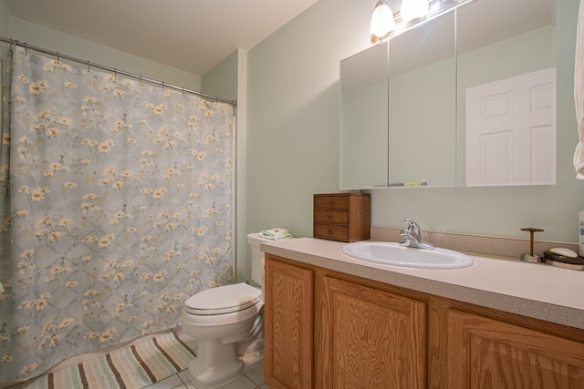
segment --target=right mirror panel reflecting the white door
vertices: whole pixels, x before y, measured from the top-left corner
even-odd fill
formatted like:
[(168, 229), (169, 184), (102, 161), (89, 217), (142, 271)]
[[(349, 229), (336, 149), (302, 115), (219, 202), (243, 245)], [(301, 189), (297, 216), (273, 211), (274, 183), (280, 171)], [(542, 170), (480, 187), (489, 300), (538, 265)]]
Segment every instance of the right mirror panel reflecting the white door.
[(553, 0), (458, 8), (459, 185), (556, 183), (555, 9)]

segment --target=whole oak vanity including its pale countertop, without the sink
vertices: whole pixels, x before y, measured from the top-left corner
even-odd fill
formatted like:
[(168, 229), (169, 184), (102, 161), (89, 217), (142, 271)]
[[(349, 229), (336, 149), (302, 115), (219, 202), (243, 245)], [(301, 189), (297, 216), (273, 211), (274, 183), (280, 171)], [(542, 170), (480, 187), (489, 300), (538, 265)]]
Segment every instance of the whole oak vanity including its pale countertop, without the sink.
[(409, 269), (343, 245), (262, 243), (271, 388), (584, 388), (581, 271), (472, 254)]

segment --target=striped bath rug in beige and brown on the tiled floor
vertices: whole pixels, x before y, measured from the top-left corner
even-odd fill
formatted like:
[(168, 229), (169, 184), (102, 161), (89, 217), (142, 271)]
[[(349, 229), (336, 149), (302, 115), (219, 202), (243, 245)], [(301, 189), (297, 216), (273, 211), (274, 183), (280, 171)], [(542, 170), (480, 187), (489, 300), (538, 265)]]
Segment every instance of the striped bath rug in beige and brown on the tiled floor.
[(141, 389), (183, 371), (194, 353), (163, 333), (23, 384), (23, 389)]

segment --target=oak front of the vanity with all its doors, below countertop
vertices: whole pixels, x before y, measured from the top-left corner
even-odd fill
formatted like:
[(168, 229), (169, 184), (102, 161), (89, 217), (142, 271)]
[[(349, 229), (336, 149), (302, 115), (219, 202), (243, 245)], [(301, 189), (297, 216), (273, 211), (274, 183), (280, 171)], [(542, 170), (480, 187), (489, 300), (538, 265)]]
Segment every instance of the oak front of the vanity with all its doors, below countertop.
[(584, 330), (266, 254), (266, 384), (584, 389)]

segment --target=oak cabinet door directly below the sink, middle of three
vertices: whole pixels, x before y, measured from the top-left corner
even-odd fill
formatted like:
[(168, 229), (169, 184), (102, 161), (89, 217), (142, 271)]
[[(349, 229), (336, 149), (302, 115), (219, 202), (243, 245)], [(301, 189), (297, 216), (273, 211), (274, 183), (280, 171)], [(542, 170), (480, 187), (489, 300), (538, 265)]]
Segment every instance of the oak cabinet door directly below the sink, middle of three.
[(423, 388), (425, 303), (323, 277), (323, 388)]

